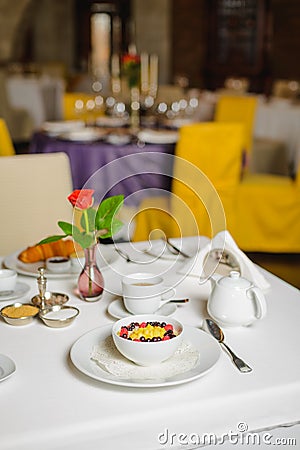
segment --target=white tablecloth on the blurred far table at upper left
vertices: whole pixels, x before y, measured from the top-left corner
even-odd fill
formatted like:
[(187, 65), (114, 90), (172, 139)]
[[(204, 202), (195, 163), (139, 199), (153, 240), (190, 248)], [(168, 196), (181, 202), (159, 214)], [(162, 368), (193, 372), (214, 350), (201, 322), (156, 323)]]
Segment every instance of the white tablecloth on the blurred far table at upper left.
[(14, 75), (7, 78), (6, 85), (11, 105), (29, 112), (35, 130), (46, 120), (62, 119), (64, 92), (62, 79)]

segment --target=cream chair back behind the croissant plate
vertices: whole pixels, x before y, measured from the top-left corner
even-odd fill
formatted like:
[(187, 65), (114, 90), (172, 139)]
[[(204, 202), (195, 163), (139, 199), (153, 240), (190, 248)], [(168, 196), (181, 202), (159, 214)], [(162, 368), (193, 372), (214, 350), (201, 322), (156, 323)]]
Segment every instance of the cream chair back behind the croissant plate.
[(67, 200), (72, 177), (65, 153), (0, 158), (0, 187), (0, 255), (62, 234), (58, 220), (72, 222)]

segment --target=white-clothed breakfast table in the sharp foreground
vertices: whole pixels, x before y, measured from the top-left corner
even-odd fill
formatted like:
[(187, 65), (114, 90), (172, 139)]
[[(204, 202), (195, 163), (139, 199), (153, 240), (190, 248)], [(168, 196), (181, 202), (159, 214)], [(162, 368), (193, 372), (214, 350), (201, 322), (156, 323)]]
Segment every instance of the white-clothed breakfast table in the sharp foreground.
[[(190, 257), (207, 242), (203, 236), (173, 240)], [(149, 242), (98, 247), (105, 286), (99, 301), (78, 297), (77, 273), (45, 272), (47, 290), (67, 294), (68, 304), (79, 309), (69, 326), (51, 328), (39, 318), (13, 326), (0, 319), (0, 355), (15, 364), (6, 378), (0, 364), (0, 449), (179, 450), (211, 448), (209, 444), (225, 449), (298, 448), (299, 290), (257, 266), (270, 285), (264, 293), (266, 316), (250, 326), (223, 330), (227, 344), (253, 369), (241, 373), (204, 330), (211, 282), (200, 283), (198, 276), (185, 273), (186, 258), (171, 253), (154, 257)], [(37, 271), (19, 265), (17, 254), (3, 255), (2, 262), (17, 270), (24, 287), (15, 301), (30, 302), (38, 292)], [(194, 336), (191, 344), (199, 344), (194, 368), (186, 372), (179, 368), (177, 376), (157, 372), (153, 379), (126, 378), (106, 372), (90, 359), (90, 336), (100, 339), (103, 333), (110, 334), (120, 317), (130, 321), (121, 280), (134, 272), (160, 274), (175, 289), (177, 299), (189, 299), (169, 303), (165, 317), (183, 323), (188, 336)], [(10, 303), (11, 299), (0, 298), (1, 306)], [(203, 335), (209, 345), (200, 345)], [(210, 363), (205, 366), (207, 358)]]

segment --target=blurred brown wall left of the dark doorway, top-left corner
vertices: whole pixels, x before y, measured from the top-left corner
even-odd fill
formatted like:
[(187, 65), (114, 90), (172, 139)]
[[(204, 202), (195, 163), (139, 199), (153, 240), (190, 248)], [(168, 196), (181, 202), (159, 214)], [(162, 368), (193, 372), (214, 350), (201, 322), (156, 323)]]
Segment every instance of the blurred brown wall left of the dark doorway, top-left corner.
[(33, 25), (33, 60), (73, 65), (73, 0), (0, 0), (0, 63), (18, 60)]

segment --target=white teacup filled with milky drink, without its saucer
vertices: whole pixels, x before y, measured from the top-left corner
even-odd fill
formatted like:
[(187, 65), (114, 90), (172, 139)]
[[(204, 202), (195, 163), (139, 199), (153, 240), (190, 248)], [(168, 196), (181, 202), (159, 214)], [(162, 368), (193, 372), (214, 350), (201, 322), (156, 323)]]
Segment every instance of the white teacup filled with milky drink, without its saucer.
[(169, 302), (175, 290), (154, 273), (133, 273), (122, 279), (123, 300), (132, 314), (152, 314)]

